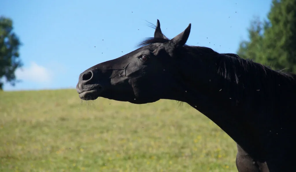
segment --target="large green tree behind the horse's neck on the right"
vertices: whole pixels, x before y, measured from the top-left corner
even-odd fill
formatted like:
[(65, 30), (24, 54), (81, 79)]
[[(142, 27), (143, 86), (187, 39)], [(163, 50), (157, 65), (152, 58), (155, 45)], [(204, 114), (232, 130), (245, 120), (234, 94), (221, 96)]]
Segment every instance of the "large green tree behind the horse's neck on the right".
[(251, 23), (237, 54), (276, 70), (296, 72), (296, 1), (273, 0), (268, 20)]

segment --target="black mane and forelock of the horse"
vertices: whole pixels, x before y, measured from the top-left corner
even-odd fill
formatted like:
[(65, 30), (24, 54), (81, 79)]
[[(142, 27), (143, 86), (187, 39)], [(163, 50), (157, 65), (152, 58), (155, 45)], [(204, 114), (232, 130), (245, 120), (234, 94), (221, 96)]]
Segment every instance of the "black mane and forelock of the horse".
[[(168, 38), (148, 37), (138, 44), (139, 47), (151, 45), (154, 43), (168, 42)], [(208, 47), (184, 45), (180, 53), (189, 54), (192, 58), (197, 55), (213, 56), (216, 64), (216, 72), (227, 82), (221, 82), (221, 89), (232, 96), (234, 101), (239, 102), (248, 96), (260, 97), (260, 100), (269, 98), (279, 99), (280, 95), (274, 96), (281, 86), (282, 93), (289, 94), (289, 91), (296, 94), (296, 75), (293, 73), (285, 73), (282, 70), (275, 71), (268, 66), (255, 63), (252, 59), (240, 58), (237, 54), (218, 53)], [(295, 91), (294, 91), (295, 90)], [(260, 95), (258, 95), (258, 91)], [(253, 95), (251, 95), (253, 94)], [(264, 96), (263, 96), (264, 95)], [(271, 96), (273, 95), (273, 96)], [(258, 97), (259, 96), (259, 97)], [(296, 96), (296, 95), (295, 95)], [(272, 100), (270, 100), (272, 101)]]

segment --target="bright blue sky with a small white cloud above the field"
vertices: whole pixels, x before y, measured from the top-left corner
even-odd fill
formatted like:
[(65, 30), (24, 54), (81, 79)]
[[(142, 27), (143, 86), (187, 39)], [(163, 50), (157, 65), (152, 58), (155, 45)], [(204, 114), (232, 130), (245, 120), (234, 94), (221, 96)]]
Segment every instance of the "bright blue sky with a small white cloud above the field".
[[(136, 49), (160, 20), (173, 38), (192, 23), (186, 44), (236, 53), (254, 16), (266, 18), (271, 0), (1, 0), (22, 46), (22, 81), (4, 91), (75, 88), (87, 68)], [(96, 46), (96, 47), (94, 47)], [(122, 52), (123, 51), (123, 52)]]

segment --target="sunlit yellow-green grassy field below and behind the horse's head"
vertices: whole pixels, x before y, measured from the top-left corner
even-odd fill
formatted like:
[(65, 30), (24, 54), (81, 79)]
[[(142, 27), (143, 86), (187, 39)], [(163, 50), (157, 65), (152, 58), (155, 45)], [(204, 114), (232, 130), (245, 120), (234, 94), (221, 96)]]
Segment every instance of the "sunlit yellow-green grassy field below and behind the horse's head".
[(0, 171), (237, 171), (236, 144), (188, 104), (0, 92)]

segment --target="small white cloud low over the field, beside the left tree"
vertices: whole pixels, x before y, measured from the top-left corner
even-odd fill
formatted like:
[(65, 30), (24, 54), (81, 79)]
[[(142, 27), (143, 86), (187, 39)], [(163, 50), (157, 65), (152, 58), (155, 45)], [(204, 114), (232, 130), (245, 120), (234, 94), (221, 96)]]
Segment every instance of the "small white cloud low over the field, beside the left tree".
[(49, 83), (52, 81), (53, 73), (44, 66), (31, 62), (27, 68), (19, 68), (15, 71), (17, 79), (22, 81), (33, 81), (36, 83)]

